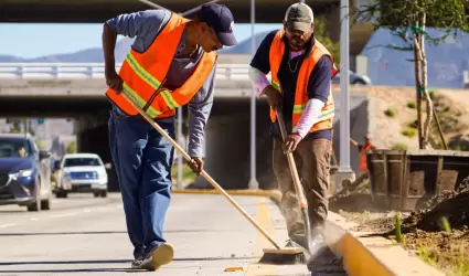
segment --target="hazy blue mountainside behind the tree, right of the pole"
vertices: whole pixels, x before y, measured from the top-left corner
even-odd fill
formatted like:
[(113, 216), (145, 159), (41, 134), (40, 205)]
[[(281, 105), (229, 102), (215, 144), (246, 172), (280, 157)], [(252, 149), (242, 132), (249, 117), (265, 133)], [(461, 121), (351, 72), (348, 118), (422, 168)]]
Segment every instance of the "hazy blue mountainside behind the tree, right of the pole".
[[(443, 32), (427, 29), (431, 36)], [(386, 30), (377, 30), (362, 51), (369, 56), (369, 76), (373, 84), (392, 86), (412, 86), (415, 84), (412, 52), (403, 52), (376, 45), (403, 45), (401, 39)], [(370, 49), (373, 47), (373, 49)], [(427, 45), (428, 85), (430, 87), (461, 88), (462, 72), (469, 70), (469, 36), (459, 33), (458, 41), (447, 40), (439, 46)], [(388, 66), (385, 70), (385, 66)]]

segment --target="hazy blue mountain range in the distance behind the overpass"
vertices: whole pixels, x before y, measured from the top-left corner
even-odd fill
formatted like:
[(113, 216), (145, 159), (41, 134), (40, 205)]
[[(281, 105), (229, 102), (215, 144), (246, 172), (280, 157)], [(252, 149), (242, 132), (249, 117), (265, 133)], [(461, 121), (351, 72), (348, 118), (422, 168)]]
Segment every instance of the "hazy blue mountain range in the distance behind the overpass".
[[(256, 47), (269, 31), (255, 35)], [(440, 32), (427, 29), (429, 35), (440, 35)], [(116, 44), (116, 60), (122, 62), (130, 49), (132, 39), (122, 38)], [(412, 52), (396, 51), (375, 45), (399, 45), (401, 39), (386, 29), (373, 33), (362, 51), (369, 57), (369, 76), (376, 85), (412, 86), (415, 84)], [(236, 46), (220, 51), (221, 54), (251, 54), (251, 39), (241, 41)], [(458, 34), (458, 41), (451, 39), (439, 46), (426, 46), (428, 60), (429, 87), (460, 88), (462, 72), (469, 70), (469, 38)], [(53, 54), (35, 59), (22, 59), (12, 55), (0, 55), (0, 62), (64, 62), (64, 63), (100, 63), (104, 62), (100, 47), (85, 49), (75, 53)]]

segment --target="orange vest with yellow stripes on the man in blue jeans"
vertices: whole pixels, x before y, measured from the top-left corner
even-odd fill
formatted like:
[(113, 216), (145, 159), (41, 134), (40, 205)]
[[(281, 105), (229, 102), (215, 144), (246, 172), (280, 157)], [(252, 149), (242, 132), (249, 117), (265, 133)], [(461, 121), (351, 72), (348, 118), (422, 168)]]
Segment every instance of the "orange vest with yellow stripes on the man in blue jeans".
[[(170, 20), (150, 47), (143, 53), (131, 49), (120, 67), (122, 93), (152, 118), (174, 116), (175, 108), (189, 103), (199, 92), (215, 64), (215, 52), (203, 53), (195, 71), (181, 87), (174, 91), (164, 87), (168, 71), (188, 21), (171, 13)], [(127, 115), (138, 114), (137, 109), (114, 89), (108, 88), (106, 95)]]

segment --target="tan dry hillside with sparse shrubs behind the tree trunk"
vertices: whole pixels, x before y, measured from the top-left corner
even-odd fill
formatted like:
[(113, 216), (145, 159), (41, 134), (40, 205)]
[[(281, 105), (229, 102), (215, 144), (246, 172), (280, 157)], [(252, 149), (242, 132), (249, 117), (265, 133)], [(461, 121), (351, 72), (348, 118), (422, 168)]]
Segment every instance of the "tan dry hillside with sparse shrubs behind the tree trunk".
[[(369, 132), (377, 148), (405, 146), (418, 149), (414, 125), (417, 112), (413, 106), (415, 91), (412, 87), (369, 86), (351, 89), (367, 94)], [(469, 104), (465, 100), (469, 97), (469, 89), (435, 89), (431, 94), (447, 145), (454, 150), (469, 150)], [(435, 120), (431, 138), (435, 147), (440, 144)]]

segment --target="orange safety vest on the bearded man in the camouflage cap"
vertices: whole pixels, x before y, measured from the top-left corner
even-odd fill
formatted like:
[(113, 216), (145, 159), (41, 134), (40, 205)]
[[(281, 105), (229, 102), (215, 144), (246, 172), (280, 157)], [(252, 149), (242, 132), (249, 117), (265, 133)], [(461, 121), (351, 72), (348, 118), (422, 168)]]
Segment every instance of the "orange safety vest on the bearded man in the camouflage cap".
[[(270, 61), (270, 71), (271, 71), (271, 85), (279, 92), (281, 92), (280, 88), (280, 81), (278, 79), (278, 71), (280, 68), (281, 60), (284, 59), (285, 53), (285, 43), (283, 41), (285, 31), (279, 30), (277, 34), (274, 38), (274, 41), (270, 45), (269, 51), (269, 61)], [(333, 56), (329, 53), (329, 51), (318, 41), (316, 40), (315, 45), (312, 46), (311, 53), (305, 57), (302, 65), (300, 67), (298, 79), (297, 79), (297, 87), (295, 92), (295, 106), (294, 106), (294, 115), (292, 115), (292, 128), (295, 128), (298, 125), (298, 121), (301, 118), (301, 115), (305, 110), (306, 105), (309, 102), (308, 97), (308, 82), (309, 76), (311, 75), (312, 70), (316, 66), (316, 63), (321, 59), (323, 55), (329, 56), (331, 59), (333, 64)], [(332, 77), (337, 74), (337, 67), (333, 64), (332, 66)], [(331, 129), (333, 124), (333, 116), (334, 116), (334, 102), (332, 92), (329, 94), (328, 102), (326, 103), (324, 107), (322, 107), (322, 110), (319, 115), (319, 117), (316, 119), (315, 125), (311, 127), (309, 132), (322, 130), (322, 129)], [(270, 120), (271, 123), (275, 123), (277, 119), (277, 113), (273, 108), (270, 108)]]

